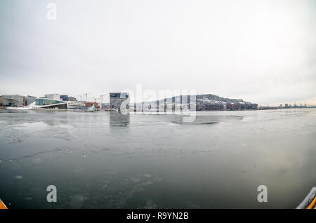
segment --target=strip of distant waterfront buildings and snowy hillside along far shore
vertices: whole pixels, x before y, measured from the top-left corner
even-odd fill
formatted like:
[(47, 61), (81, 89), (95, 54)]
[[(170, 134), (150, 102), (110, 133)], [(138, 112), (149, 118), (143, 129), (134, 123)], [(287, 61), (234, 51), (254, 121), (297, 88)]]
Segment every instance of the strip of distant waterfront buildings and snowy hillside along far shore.
[[(87, 94), (86, 94), (87, 95)], [(94, 107), (98, 110), (120, 110), (120, 109), (133, 109), (133, 111), (175, 111), (175, 110), (187, 110), (195, 109), (197, 111), (209, 111), (209, 110), (244, 110), (244, 109), (290, 109), (290, 108), (306, 108), (307, 105), (300, 103), (298, 106), (294, 102), (294, 106), (289, 103), (279, 104), (277, 107), (260, 106), (258, 104), (245, 102), (242, 99), (230, 99), (219, 97), (217, 95), (195, 95), (194, 102), (191, 102), (192, 95), (178, 95), (170, 98), (164, 98), (162, 100), (152, 102), (140, 102), (130, 104), (129, 93), (109, 93), (109, 103), (103, 103), (102, 97), (95, 98), (94, 100), (100, 100), (98, 102), (77, 101), (75, 97), (69, 95), (46, 94), (43, 97), (34, 97), (27, 95), (1, 95), (0, 107), (38, 107), (38, 108), (60, 108), (60, 109), (85, 109)], [(80, 96), (80, 95), (79, 95)], [(104, 95), (101, 95), (104, 96)]]

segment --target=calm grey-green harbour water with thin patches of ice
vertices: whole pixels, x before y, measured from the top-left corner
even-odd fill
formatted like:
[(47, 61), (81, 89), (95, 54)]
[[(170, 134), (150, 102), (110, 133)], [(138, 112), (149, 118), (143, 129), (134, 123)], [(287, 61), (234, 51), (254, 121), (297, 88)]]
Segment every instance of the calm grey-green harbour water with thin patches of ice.
[(0, 198), (8, 208), (296, 208), (316, 186), (315, 127), (316, 109), (197, 112), (195, 123), (0, 110)]

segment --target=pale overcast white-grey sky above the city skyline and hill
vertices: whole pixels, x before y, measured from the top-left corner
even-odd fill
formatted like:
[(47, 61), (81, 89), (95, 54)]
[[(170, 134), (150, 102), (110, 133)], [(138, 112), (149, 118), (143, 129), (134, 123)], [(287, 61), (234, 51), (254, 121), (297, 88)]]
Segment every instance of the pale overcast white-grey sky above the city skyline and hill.
[(316, 1), (0, 1), (0, 95), (138, 84), (316, 105)]

